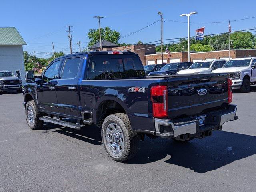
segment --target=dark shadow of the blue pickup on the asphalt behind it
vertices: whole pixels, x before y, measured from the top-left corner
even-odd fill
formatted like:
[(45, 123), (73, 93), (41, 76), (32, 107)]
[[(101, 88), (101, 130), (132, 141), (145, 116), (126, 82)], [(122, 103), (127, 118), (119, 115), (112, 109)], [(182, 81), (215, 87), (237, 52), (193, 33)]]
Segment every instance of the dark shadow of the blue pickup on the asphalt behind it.
[(256, 154), (256, 137), (226, 131), (213, 132), (213, 136), (188, 143), (177, 143), (158, 138), (140, 142), (137, 155), (128, 164), (145, 164), (161, 160), (182, 166), (197, 173), (216, 170)]

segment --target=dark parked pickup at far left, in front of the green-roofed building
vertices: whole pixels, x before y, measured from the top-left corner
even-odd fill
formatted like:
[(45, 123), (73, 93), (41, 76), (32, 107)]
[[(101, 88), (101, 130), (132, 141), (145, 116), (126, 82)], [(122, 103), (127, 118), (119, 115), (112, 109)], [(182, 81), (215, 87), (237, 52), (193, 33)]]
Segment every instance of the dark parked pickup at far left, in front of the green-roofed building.
[(11, 90), (22, 92), (21, 78), (15, 76), (11, 71), (0, 71), (0, 93)]

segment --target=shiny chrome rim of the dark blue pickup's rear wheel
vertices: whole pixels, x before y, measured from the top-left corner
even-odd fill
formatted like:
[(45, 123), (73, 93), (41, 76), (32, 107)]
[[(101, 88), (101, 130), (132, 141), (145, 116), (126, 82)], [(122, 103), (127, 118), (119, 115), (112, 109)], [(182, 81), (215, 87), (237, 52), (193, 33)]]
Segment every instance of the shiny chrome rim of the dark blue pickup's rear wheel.
[(114, 154), (120, 154), (124, 150), (124, 133), (120, 126), (110, 123), (106, 129), (106, 143)]

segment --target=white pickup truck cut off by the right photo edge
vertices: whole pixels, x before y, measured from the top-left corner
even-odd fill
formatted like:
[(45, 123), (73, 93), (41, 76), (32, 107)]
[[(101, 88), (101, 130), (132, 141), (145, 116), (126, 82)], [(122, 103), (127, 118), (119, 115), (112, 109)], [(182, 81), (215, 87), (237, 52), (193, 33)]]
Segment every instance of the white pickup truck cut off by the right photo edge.
[(256, 57), (232, 59), (215, 72), (229, 73), (232, 88), (238, 88), (241, 92), (249, 92), (250, 85), (256, 84)]

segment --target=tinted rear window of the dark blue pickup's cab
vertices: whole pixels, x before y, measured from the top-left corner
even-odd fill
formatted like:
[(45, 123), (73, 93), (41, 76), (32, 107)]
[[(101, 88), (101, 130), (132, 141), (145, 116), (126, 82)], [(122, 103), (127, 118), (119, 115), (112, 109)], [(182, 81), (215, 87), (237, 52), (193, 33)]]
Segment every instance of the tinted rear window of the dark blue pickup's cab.
[(136, 78), (145, 76), (138, 56), (93, 55), (90, 58), (87, 80)]

